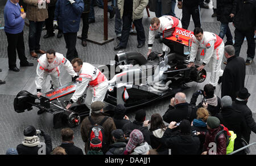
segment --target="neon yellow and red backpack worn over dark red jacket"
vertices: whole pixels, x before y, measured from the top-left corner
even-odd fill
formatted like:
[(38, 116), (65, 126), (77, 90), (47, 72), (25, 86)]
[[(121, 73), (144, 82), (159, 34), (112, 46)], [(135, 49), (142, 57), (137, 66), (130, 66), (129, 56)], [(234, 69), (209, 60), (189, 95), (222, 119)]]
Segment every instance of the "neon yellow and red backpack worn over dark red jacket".
[(229, 131), (227, 127), (224, 125), (220, 125), (221, 131), (215, 135), (214, 142), (217, 144), (217, 139), (221, 134), (224, 134), (226, 137), (226, 154), (230, 154), (234, 151), (234, 140), (237, 138), (237, 134), (234, 131)]

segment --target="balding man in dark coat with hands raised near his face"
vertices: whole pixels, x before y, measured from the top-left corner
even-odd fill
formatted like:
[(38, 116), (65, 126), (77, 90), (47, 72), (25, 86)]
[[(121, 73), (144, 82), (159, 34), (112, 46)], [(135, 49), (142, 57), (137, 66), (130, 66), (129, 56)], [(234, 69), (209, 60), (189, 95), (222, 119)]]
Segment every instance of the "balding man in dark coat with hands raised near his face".
[(163, 115), (163, 120), (170, 124), (170, 122), (180, 122), (187, 119), (190, 122), (196, 118), (197, 107), (187, 103), (187, 97), (183, 92), (177, 92), (175, 97), (172, 97), (169, 109)]

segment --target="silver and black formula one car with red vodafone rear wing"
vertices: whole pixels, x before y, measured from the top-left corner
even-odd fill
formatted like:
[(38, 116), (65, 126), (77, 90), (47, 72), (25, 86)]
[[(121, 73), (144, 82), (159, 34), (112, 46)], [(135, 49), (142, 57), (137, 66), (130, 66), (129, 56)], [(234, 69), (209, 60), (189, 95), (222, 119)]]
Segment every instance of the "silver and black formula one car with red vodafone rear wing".
[[(161, 55), (152, 52), (146, 59), (137, 52), (118, 52), (114, 63), (98, 66), (108, 78), (109, 87), (105, 96), (107, 110), (113, 110), (117, 104), (127, 109), (138, 107), (152, 101), (175, 95), (176, 92), (189, 88), (186, 83), (204, 82), (207, 73), (203, 69), (187, 67), (189, 49), (193, 32), (182, 28), (167, 29), (163, 32), (163, 43), (171, 48), (170, 53)], [(63, 124), (75, 127), (81, 118), (89, 115), (89, 109), (82, 104), (86, 93), (77, 105), (70, 110), (65, 109), (77, 82), (70, 82), (49, 91), (39, 98), (27, 91), (20, 91), (14, 100), (16, 112), (31, 110), (32, 107), (53, 113), (55, 128)], [(86, 92), (86, 91), (85, 91)]]

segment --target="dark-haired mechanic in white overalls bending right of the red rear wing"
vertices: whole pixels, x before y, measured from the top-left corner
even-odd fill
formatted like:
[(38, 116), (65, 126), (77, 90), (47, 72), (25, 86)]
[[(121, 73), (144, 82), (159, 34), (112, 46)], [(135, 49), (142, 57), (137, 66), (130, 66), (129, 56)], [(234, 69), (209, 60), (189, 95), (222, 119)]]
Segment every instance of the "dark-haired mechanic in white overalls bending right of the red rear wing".
[[(203, 63), (197, 68), (201, 71), (204, 69), (204, 66), (209, 63), (210, 72), (210, 84), (214, 87), (217, 86), (218, 79), (223, 74), (221, 70), (221, 62), (224, 56), (224, 42), (222, 39), (215, 35), (212, 32), (203, 32), (202, 28), (196, 27), (194, 29), (194, 36), (191, 45), (191, 53), (189, 57), (188, 67), (195, 66), (195, 58), (197, 56), (197, 51), (199, 49), (205, 49), (201, 52), (200, 59), (203, 60)], [(199, 60), (199, 59), (197, 59)]]

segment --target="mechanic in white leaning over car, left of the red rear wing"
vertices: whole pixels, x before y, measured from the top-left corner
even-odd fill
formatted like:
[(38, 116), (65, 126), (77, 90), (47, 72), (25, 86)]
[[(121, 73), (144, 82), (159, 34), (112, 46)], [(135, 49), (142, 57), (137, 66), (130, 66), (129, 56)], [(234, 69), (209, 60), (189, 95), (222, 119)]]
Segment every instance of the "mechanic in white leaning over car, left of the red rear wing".
[[(182, 24), (179, 19), (175, 18), (174, 16), (170, 15), (164, 15), (160, 18), (152, 18), (150, 22), (150, 29), (148, 33), (148, 52), (147, 56), (151, 53), (152, 51), (152, 46), (154, 43), (155, 39), (155, 33), (160, 32), (163, 33), (164, 30), (174, 28), (174, 27), (179, 27), (182, 28)], [(170, 52), (170, 48), (163, 44), (163, 54), (166, 52)]]

